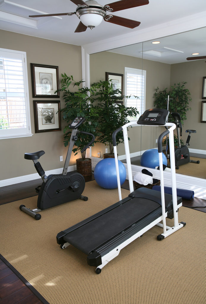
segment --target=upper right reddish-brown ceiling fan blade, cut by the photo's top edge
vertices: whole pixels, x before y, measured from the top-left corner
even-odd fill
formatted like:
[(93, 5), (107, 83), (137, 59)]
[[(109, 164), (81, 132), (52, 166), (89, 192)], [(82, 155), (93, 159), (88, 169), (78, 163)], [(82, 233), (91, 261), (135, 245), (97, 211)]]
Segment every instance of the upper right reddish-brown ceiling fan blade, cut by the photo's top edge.
[[(137, 7), (146, 4), (149, 4), (148, 0), (121, 0), (106, 4), (104, 8), (110, 12), (117, 12), (121, 11), (122, 9), (131, 9), (132, 7)], [(110, 7), (110, 9), (108, 9), (108, 7)]]

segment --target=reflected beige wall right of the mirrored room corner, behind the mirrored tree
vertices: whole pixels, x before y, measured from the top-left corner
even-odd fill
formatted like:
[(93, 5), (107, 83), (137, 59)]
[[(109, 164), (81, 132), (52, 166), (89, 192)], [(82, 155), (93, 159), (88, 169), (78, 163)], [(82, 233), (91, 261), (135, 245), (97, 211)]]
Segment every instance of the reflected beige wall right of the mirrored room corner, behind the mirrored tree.
[(191, 135), (190, 148), (206, 150), (206, 126), (201, 123), (201, 106), (202, 106), (202, 82), (206, 75), (205, 60), (194, 60), (171, 65), (170, 85), (180, 81), (186, 81), (185, 85), (191, 93), (192, 102), (189, 106), (191, 111), (187, 112), (187, 120), (183, 126), (183, 140), (186, 143), (187, 134), (185, 130), (196, 130), (196, 134)]

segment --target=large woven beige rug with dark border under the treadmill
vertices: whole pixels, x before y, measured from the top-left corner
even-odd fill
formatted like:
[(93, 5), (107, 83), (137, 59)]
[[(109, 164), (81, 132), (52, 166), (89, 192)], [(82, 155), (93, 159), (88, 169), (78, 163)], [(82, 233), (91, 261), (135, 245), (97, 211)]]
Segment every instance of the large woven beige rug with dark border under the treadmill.
[[(122, 189), (123, 197), (128, 193)], [(56, 242), (61, 230), (118, 201), (117, 189), (95, 181), (86, 183), (83, 194), (87, 202), (44, 210), (39, 221), (19, 210), (21, 204), (34, 208), (37, 196), (0, 206), (0, 253), (50, 304), (206, 303), (206, 213), (181, 207), (185, 227), (162, 241), (156, 239), (162, 229), (153, 227), (97, 275), (85, 254)]]

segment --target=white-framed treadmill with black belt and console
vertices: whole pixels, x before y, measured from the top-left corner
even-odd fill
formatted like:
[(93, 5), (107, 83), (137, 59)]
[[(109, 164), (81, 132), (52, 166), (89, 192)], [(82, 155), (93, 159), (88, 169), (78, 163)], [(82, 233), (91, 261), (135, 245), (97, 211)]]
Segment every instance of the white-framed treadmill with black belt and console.
[[(167, 123), (168, 115), (169, 111), (165, 109), (149, 109), (140, 116), (138, 121), (127, 123), (114, 131), (113, 146), (119, 201), (57, 234), (57, 243), (60, 244), (60, 247), (64, 249), (71, 244), (84, 252), (87, 255), (88, 264), (96, 267), (97, 274), (101, 273), (101, 269), (115, 258), (122, 248), (137, 237), (141, 237), (153, 226), (163, 227), (163, 233), (157, 236), (158, 240), (163, 240), (186, 225), (184, 222), (178, 223), (177, 212), (182, 206), (182, 198), (177, 197), (176, 190), (173, 141), (173, 130), (176, 125)], [(161, 133), (158, 138), (161, 192), (143, 187), (134, 191), (127, 129), (130, 126), (138, 125), (167, 127), (167, 130)], [(116, 147), (116, 134), (120, 131), (123, 131), (124, 136), (130, 188), (130, 194), (125, 199), (122, 199), (121, 195)], [(162, 141), (167, 134), (169, 134), (171, 151), (172, 195), (164, 193), (163, 183)], [(173, 227), (166, 226), (166, 217), (174, 218)], [(162, 223), (160, 223), (161, 221)]]

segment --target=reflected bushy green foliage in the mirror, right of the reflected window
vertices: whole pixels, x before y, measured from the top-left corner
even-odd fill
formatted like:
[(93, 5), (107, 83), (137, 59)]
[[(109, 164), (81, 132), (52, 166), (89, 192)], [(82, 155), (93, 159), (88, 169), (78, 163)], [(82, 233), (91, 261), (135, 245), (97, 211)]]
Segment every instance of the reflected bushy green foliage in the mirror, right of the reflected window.
[[(155, 89), (155, 101), (154, 106), (159, 109), (167, 109), (167, 98), (170, 96), (169, 111), (177, 112), (180, 114), (182, 125), (184, 120), (187, 119), (187, 111), (191, 110), (189, 102), (192, 101), (190, 91), (185, 87), (187, 82), (182, 81), (177, 85), (174, 84), (170, 91), (165, 88), (163, 91), (159, 91), (159, 87)], [(172, 121), (173, 117), (170, 115), (169, 119)]]

